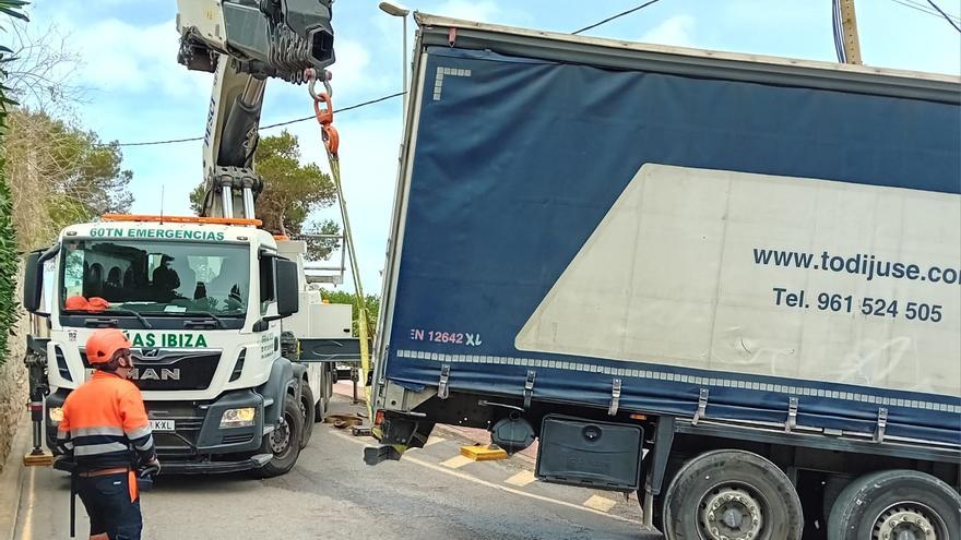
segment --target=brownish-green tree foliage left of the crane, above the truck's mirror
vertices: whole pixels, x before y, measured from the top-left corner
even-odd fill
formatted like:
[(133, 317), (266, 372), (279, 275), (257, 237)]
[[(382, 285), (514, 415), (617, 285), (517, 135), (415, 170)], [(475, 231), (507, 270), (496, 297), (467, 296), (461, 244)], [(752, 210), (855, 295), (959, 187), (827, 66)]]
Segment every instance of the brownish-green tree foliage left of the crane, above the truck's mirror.
[(116, 142), (51, 118), (14, 109), (4, 142), (21, 249), (49, 242), (67, 225), (106, 213), (129, 212), (132, 172), (122, 168)]

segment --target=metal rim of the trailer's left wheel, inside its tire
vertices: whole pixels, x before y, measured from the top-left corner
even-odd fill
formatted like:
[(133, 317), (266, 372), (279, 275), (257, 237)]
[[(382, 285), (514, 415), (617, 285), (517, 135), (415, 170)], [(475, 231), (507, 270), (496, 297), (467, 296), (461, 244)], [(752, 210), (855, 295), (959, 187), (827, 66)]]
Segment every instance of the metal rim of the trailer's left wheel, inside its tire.
[(705, 540), (755, 540), (764, 527), (764, 501), (749, 485), (717, 485), (704, 493), (699, 508)]

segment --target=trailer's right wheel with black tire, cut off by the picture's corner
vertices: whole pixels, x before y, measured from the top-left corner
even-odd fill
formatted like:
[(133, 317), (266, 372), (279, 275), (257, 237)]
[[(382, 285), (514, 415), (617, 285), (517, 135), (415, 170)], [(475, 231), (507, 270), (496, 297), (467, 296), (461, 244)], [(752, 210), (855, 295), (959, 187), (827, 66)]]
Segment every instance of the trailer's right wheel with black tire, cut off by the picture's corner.
[(901, 538), (903, 532), (923, 539), (925, 533), (918, 530), (923, 527), (930, 527), (937, 540), (958, 540), (959, 509), (961, 495), (930, 475), (916, 470), (873, 472), (838, 496), (828, 518), (828, 540), (886, 538), (885, 533)]

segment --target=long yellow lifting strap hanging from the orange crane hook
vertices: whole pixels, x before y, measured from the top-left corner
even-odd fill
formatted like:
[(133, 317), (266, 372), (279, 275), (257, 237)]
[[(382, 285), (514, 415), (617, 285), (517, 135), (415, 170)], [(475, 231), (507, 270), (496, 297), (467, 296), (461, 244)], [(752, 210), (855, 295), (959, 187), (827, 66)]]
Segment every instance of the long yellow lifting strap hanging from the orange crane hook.
[(370, 399), (370, 386), (367, 380), (370, 373), (370, 344), (372, 341), (372, 329), (370, 324), (370, 313), (367, 312), (367, 298), (364, 296), (364, 287), (360, 285), (360, 267), (357, 264), (357, 250), (354, 249), (354, 235), (351, 231), (351, 218), (347, 215), (347, 201), (344, 197), (344, 188), (341, 182), (341, 159), (337, 155), (340, 147), (340, 135), (336, 128), (333, 127), (334, 109), (331, 100), (330, 76), (328, 73), (321, 75), (325, 92), (315, 92), (315, 84), (318, 81), (318, 74), (313, 70), (306, 73), (309, 81), (308, 91), (310, 97), (313, 98), (313, 112), (317, 121), (320, 123), (321, 137), (323, 139), (323, 147), (327, 151), (327, 159), (330, 164), (331, 178), (334, 181), (334, 188), (337, 190), (337, 204), (341, 207), (341, 220), (344, 224), (344, 248), (347, 250), (351, 264), (351, 277), (354, 279), (354, 295), (357, 302), (357, 335), (360, 339), (360, 376), (364, 382), (364, 397), (367, 401), (367, 418), (373, 421), (372, 405)]

